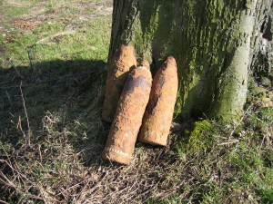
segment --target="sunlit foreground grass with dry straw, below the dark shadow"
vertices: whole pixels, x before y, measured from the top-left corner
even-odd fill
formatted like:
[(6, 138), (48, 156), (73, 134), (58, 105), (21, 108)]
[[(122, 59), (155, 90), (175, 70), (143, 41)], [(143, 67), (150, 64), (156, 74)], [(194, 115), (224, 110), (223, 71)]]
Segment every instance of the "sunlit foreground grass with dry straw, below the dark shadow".
[[(30, 145), (22, 136), (14, 147), (1, 142), (2, 198), (12, 203), (246, 203), (263, 200), (256, 190), (270, 190), (272, 180), (261, 176), (272, 176), (272, 119), (257, 118), (260, 110), (253, 107), (236, 129), (216, 121), (189, 123), (165, 148), (137, 143), (129, 166), (101, 160), (109, 127), (99, 118), (100, 80), (88, 91), (95, 97), (84, 117), (67, 117), (65, 105), (45, 113)], [(262, 127), (267, 120), (270, 125)], [(250, 127), (250, 122), (257, 123)], [(252, 171), (258, 176), (254, 180), (246, 178)]]

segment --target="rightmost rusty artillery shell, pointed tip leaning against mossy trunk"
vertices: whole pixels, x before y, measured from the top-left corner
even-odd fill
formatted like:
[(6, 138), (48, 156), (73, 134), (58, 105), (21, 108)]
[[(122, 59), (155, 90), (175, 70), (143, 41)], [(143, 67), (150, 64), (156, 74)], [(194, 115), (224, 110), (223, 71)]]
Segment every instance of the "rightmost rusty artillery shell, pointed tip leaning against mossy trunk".
[(138, 141), (165, 146), (177, 100), (177, 63), (169, 56), (153, 80)]

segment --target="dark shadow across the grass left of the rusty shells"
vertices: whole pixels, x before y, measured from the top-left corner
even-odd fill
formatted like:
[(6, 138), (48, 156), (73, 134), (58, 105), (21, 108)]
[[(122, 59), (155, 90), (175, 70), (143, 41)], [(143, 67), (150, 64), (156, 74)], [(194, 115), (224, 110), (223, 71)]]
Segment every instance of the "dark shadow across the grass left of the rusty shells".
[(16, 150), (31, 131), (31, 143), (69, 143), (87, 166), (97, 163), (109, 128), (100, 120), (105, 65), (77, 60), (0, 67), (1, 141)]

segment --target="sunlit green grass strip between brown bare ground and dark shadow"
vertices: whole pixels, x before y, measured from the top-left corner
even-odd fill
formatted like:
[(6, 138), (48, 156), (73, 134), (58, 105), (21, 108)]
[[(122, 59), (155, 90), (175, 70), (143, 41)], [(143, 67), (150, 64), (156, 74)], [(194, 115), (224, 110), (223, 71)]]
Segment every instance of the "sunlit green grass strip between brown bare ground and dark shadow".
[[(52, 24), (45, 22), (45, 24), (39, 24), (28, 34), (12, 31), (12, 42), (3, 45), (5, 56), (20, 66), (29, 64), (28, 49), (35, 53), (37, 63), (60, 60), (106, 61), (110, 19), (110, 16), (107, 16), (97, 17), (95, 21), (85, 23), (70, 22), (80, 26), (76, 30), (66, 28), (63, 22)], [(4, 56), (1, 61), (0, 64), (3, 67), (10, 65), (5, 62)]]

